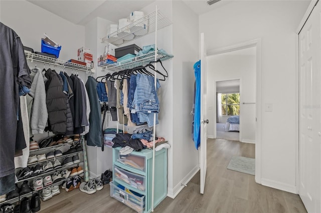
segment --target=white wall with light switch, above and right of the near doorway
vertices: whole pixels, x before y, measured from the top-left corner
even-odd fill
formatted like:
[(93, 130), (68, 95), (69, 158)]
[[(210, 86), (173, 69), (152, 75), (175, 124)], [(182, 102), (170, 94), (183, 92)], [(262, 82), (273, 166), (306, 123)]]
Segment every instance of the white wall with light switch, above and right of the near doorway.
[[(290, 192), (296, 191), (295, 29), (308, 4), (235, 1), (199, 20), (207, 49), (262, 38), (261, 182)], [(264, 111), (265, 103), (273, 104), (272, 112)]]

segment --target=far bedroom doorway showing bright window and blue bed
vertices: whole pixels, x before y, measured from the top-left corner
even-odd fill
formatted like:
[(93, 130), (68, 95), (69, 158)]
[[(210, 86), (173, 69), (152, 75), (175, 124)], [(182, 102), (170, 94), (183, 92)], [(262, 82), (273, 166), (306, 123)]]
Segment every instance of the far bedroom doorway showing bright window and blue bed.
[(240, 79), (216, 81), (216, 138), (240, 141)]

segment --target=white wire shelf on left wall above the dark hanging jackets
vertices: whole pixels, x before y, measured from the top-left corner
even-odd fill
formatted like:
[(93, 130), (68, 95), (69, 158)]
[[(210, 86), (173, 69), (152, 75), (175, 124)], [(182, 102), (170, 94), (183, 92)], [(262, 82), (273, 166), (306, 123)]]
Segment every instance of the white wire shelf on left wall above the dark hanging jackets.
[(26, 58), (33, 61), (40, 61), (43, 63), (48, 63), (48, 64), (53, 64), (54, 66), (58, 65), (58, 66), (62, 66), (62, 67), (67, 67), (67, 68), (72, 68), (72, 69), (76, 69), (76, 70), (80, 70), (80, 71), (90, 71), (90, 72), (94, 72), (94, 69), (90, 66), (85, 66), (85, 65), (81, 65), (78, 63), (72, 63), (66, 60), (60, 60), (57, 58), (53, 58), (53, 57), (48, 57), (45, 55), (40, 55), (40, 54), (36, 54), (36, 53), (32, 53), (32, 52), (25, 52)]

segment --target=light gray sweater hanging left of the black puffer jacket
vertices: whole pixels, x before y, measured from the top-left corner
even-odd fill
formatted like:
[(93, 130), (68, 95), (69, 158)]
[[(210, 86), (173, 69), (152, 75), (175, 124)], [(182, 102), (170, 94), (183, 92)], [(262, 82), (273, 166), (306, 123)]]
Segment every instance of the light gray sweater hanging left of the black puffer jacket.
[(44, 76), (41, 69), (38, 67), (31, 70), (30, 76), (32, 78), (32, 85), (29, 95), (34, 98), (30, 127), (33, 134), (44, 133), (48, 120)]

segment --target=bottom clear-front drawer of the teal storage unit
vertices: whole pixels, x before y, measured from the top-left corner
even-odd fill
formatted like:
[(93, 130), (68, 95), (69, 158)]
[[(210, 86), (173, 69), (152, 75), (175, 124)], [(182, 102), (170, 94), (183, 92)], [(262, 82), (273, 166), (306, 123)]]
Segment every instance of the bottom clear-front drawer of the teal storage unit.
[(145, 208), (145, 196), (129, 190), (121, 184), (112, 181), (110, 184), (110, 196), (125, 203), (137, 212), (143, 212)]

